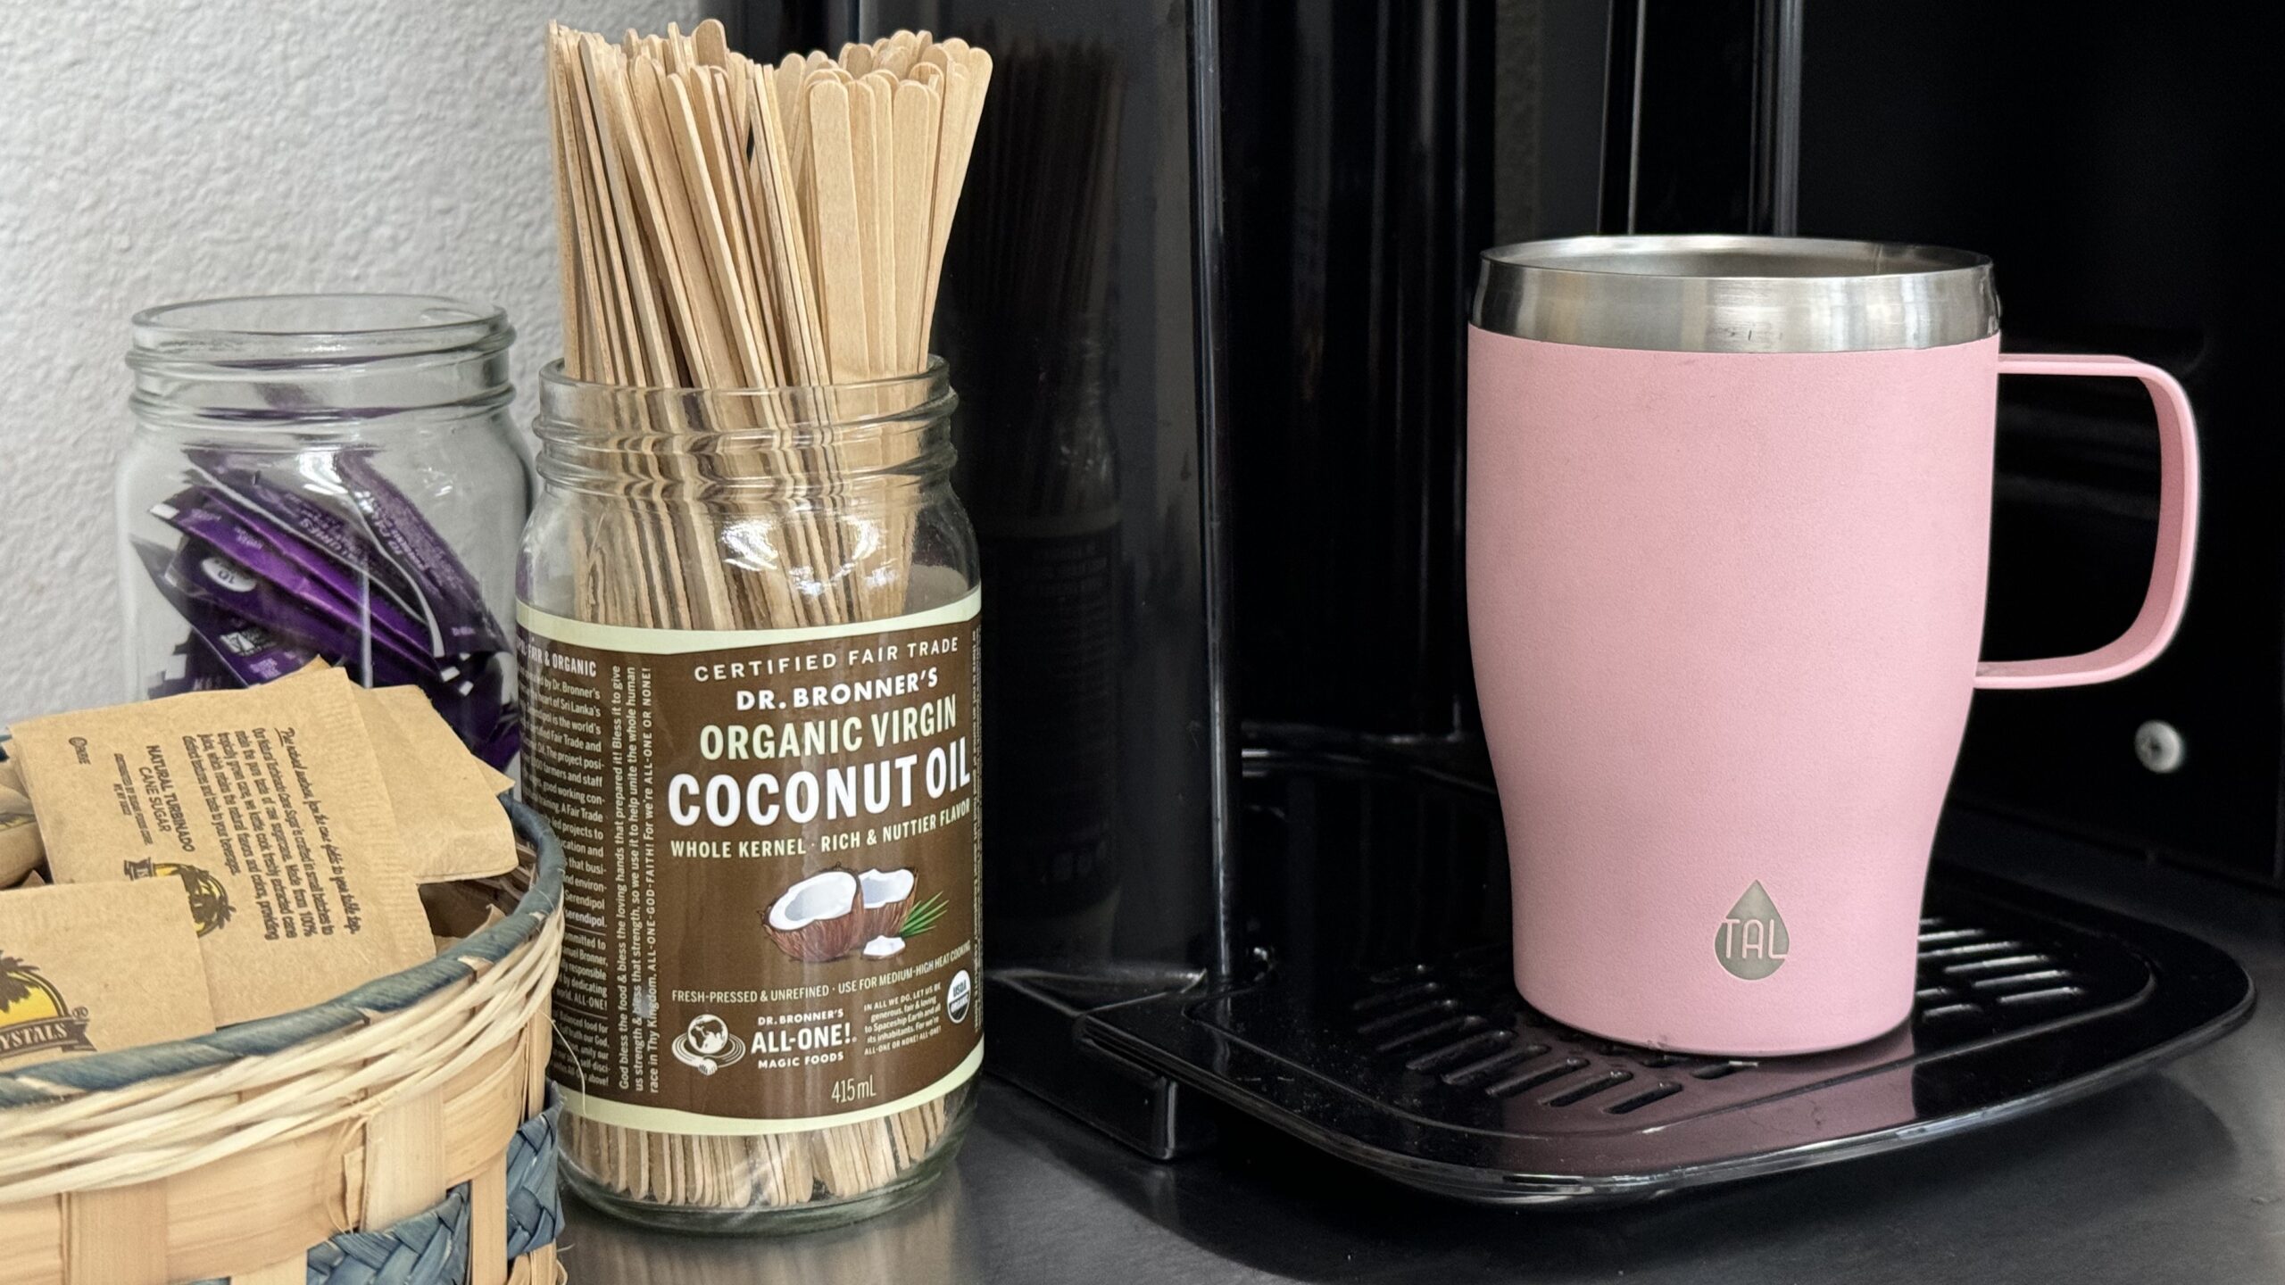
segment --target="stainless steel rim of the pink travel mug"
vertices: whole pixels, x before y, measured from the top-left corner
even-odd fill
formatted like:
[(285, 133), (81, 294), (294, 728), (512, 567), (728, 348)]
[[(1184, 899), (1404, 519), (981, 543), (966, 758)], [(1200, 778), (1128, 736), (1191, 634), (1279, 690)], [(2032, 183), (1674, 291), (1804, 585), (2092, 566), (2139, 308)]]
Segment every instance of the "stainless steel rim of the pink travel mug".
[(1993, 261), (1778, 236), (1574, 236), (1483, 252), (1469, 320), (1654, 352), (1871, 352), (1999, 334)]

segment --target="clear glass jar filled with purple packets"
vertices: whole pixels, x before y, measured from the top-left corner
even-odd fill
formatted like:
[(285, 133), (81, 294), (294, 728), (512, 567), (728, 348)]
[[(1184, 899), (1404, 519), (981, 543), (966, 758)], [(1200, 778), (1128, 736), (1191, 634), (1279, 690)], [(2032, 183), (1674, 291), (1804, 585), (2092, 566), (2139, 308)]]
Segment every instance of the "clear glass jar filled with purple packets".
[(498, 309), (427, 295), (139, 313), (117, 478), (128, 695), (322, 659), (418, 684), (473, 752), (514, 759), (512, 341)]

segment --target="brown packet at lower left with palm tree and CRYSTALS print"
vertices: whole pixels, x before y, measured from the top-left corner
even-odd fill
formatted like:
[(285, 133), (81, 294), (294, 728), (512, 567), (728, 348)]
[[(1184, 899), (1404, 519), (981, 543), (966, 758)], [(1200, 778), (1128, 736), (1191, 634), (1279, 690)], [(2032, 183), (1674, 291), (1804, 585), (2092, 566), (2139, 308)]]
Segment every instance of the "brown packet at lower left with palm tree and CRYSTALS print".
[(199, 933), (174, 887), (0, 896), (0, 1070), (213, 1029)]

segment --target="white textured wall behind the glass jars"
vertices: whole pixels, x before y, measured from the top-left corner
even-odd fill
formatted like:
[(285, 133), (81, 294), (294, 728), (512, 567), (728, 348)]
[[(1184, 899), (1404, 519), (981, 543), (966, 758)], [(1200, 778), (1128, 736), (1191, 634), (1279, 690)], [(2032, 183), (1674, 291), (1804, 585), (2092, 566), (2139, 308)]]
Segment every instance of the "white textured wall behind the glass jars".
[(121, 697), (128, 316), (295, 290), (491, 300), (530, 389), (560, 352), (544, 25), (665, 30), (706, 9), (0, 5), (0, 725)]

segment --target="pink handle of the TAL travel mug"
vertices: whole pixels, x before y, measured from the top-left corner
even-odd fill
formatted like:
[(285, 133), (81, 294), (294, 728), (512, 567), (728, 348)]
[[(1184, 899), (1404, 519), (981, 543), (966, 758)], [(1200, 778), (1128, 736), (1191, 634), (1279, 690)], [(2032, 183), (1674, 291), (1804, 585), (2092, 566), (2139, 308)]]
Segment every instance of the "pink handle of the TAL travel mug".
[(2189, 599), (2189, 565), (2198, 549), (2198, 432), (2189, 396), (2173, 375), (2125, 357), (2054, 357), (2002, 352), (2002, 375), (2095, 375), (2141, 380), (2157, 407), (2157, 553), (2150, 558), (2150, 592), (2116, 640), (2077, 656), (2045, 661), (1979, 661), (1979, 688), (2061, 688), (2123, 679), (2148, 665), (2173, 640)]

